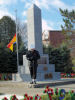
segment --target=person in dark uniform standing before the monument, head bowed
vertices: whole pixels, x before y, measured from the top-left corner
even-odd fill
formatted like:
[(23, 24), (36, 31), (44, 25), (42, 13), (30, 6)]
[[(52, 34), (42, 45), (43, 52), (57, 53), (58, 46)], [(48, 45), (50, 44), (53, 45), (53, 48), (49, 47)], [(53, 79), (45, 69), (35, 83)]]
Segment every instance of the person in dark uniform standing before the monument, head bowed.
[(29, 70), (30, 70), (30, 75), (32, 78), (31, 84), (36, 84), (36, 75), (37, 75), (37, 67), (38, 63), (37, 60), (40, 59), (40, 54), (37, 50), (35, 50), (34, 46), (30, 47), (31, 49), (28, 50), (26, 53), (26, 58), (29, 63)]

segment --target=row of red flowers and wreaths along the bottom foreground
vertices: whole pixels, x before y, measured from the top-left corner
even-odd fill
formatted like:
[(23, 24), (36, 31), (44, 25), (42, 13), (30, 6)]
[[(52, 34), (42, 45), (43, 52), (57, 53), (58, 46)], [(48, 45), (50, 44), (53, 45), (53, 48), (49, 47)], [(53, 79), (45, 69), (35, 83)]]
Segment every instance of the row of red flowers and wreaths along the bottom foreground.
[(70, 90), (66, 92), (64, 89), (52, 89), (49, 86), (46, 86), (43, 91), (43, 95), (36, 94), (35, 96), (29, 96), (27, 93), (24, 94), (23, 99), (19, 99), (16, 95), (13, 95), (8, 99), (4, 97), (2, 100), (75, 100), (75, 91)]

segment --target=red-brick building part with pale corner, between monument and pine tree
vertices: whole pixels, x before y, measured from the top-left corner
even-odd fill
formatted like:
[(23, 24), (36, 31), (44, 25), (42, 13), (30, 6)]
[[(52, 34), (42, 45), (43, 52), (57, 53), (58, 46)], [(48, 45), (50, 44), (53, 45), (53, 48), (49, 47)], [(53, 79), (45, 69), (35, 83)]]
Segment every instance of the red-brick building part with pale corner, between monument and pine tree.
[(59, 47), (61, 43), (65, 40), (62, 31), (44, 31), (42, 34), (43, 44), (48, 46), (51, 45), (53, 47)]

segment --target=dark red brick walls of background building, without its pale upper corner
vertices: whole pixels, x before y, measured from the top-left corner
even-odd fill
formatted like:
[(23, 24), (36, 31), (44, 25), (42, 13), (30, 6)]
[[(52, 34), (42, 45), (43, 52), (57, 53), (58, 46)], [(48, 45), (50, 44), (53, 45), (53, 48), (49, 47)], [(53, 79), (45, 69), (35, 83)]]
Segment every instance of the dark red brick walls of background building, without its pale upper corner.
[[(69, 48), (71, 50), (71, 56), (75, 57), (75, 34), (71, 36), (71, 40), (72, 44), (70, 44)], [(59, 47), (63, 41), (65, 41), (65, 37), (62, 34), (62, 31), (53, 30), (49, 31), (49, 38), (48, 40), (43, 40), (43, 43), (44, 44), (48, 43), (53, 47)]]

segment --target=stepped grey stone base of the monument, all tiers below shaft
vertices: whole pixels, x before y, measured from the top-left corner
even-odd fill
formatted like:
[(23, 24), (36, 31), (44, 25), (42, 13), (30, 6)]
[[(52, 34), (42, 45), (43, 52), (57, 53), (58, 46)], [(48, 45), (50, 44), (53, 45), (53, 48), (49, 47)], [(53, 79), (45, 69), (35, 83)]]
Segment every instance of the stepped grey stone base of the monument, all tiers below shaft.
[[(37, 81), (59, 80), (60, 72), (55, 72), (55, 65), (49, 64), (48, 55), (42, 55), (38, 61)], [(18, 67), (18, 73), (12, 75), (13, 81), (30, 82), (31, 76), (26, 55), (23, 55), (23, 66)]]

